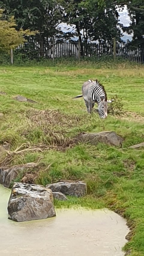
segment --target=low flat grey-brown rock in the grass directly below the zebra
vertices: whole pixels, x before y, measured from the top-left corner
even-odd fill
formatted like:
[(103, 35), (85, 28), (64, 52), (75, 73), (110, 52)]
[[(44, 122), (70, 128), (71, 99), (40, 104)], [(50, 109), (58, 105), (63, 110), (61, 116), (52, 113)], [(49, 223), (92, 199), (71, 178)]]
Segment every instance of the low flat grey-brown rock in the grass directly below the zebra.
[(98, 133), (82, 133), (78, 136), (81, 142), (90, 142), (97, 145), (98, 142), (111, 146), (122, 146), (123, 138), (116, 134), (115, 131), (102, 131)]

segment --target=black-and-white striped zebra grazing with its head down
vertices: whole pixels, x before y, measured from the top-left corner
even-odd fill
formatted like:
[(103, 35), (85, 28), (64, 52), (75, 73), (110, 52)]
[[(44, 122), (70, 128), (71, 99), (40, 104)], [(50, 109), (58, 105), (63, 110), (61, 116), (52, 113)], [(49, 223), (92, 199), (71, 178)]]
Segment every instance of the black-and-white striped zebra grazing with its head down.
[(112, 101), (107, 100), (107, 93), (104, 86), (96, 79), (88, 80), (82, 85), (82, 94), (74, 98), (83, 97), (88, 113), (94, 108), (95, 103), (98, 104), (98, 114), (101, 118), (107, 117), (107, 103)]

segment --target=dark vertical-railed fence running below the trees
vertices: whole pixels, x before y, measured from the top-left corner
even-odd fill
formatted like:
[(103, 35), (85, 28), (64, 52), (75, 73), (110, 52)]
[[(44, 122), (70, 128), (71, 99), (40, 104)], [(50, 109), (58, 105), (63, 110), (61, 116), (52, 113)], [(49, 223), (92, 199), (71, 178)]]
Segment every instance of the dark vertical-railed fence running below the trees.
[[(49, 40), (48, 38), (44, 39), (44, 57), (47, 59), (54, 60), (56, 58), (70, 58), (73, 57), (80, 61), (81, 57), (96, 57), (101, 58), (102, 56), (113, 56), (116, 59), (117, 56), (122, 57), (123, 59), (129, 59), (130, 61), (135, 61), (139, 63), (144, 63), (144, 49), (142, 48), (128, 48), (124, 44), (118, 44), (114, 38), (113, 42), (107, 43), (83, 43), (83, 53), (84, 56), (81, 56), (79, 41), (57, 41), (54, 38)], [(30, 39), (29, 42), (24, 46), (17, 47), (16, 50), (11, 50), (11, 64), (13, 64), (15, 59), (15, 53), (22, 53), (32, 55), (33, 59), (39, 59), (41, 56), (40, 45), (34, 39)]]

